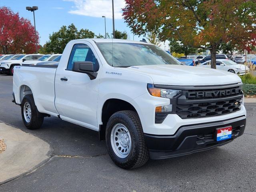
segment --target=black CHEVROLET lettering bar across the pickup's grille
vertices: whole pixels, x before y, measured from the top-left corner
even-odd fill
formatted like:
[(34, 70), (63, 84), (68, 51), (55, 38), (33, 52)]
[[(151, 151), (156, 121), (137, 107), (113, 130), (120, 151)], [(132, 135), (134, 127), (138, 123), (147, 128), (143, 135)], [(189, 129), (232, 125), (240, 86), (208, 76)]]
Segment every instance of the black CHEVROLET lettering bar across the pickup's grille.
[(205, 97), (226, 97), (232, 95), (238, 95), (241, 93), (241, 88), (228, 89), (228, 90), (217, 90), (217, 91), (198, 91), (188, 92), (187, 98), (205, 98)]

